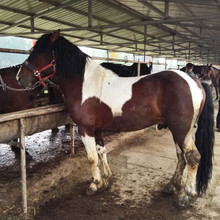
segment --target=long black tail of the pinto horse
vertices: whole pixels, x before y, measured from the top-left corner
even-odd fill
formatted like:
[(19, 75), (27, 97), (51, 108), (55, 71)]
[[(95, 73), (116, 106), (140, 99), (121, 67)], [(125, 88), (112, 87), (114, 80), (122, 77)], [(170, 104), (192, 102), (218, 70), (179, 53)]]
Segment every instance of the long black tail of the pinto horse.
[(199, 195), (205, 193), (209, 180), (212, 177), (212, 158), (214, 145), (214, 106), (212, 92), (209, 85), (202, 83), (206, 93), (203, 111), (199, 117), (196, 132), (196, 147), (201, 155), (197, 172), (197, 192)]

